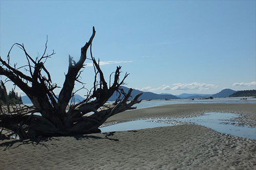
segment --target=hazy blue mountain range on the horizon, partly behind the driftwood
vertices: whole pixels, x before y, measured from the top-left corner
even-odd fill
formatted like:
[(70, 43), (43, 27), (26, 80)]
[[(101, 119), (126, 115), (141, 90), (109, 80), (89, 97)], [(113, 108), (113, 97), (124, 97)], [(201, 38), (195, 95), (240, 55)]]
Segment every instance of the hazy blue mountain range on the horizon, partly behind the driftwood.
[[(122, 86), (124, 92), (128, 92), (130, 88), (124, 87)], [(188, 94), (188, 93), (182, 93), (180, 95), (173, 95), (173, 94), (169, 94), (169, 93), (161, 93), (161, 94), (156, 94), (153, 92), (148, 92), (148, 91), (140, 91), (140, 90), (136, 90), (133, 89), (132, 91), (132, 97), (134, 97), (135, 95), (139, 94), (139, 93), (143, 93), (139, 99), (142, 100), (169, 100), (169, 99), (200, 99), (200, 98), (209, 98), (210, 96), (212, 96), (213, 98), (227, 98), (229, 95), (233, 94), (234, 90), (231, 89), (223, 89), (220, 92), (216, 93), (216, 94), (197, 94), (197, 93), (192, 93), (192, 94)], [(57, 95), (58, 96), (58, 95)], [(118, 94), (115, 92), (111, 98), (109, 99), (109, 101), (115, 101), (118, 97)], [(75, 94), (75, 101), (79, 102), (84, 100), (84, 98), (78, 94)], [(30, 99), (28, 98), (27, 95), (22, 96), (22, 101), (24, 104), (31, 104)]]

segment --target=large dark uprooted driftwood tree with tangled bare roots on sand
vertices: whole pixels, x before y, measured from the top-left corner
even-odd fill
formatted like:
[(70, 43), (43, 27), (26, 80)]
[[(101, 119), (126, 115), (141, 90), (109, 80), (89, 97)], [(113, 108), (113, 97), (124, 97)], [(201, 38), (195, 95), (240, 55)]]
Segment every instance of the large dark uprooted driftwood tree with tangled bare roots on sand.
[[(110, 75), (110, 80), (106, 83), (103, 72), (100, 69), (99, 61), (97, 62), (92, 55), (92, 41), (95, 36), (95, 29), (88, 42), (81, 48), (79, 61), (75, 62), (69, 56), (68, 73), (65, 82), (57, 97), (54, 89), (57, 84), (52, 83), (50, 72), (45, 67), (45, 62), (54, 52), (47, 54), (47, 42), (44, 54), (41, 57), (33, 59), (26, 51), (24, 44), (15, 43), (11, 47), (7, 56), (7, 61), (0, 57), (0, 75), (4, 75), (16, 86), (23, 90), (32, 101), (33, 106), (23, 106), (6, 111), (0, 115), (0, 127), (18, 134), (20, 138), (31, 138), (37, 136), (67, 136), (74, 134), (88, 134), (100, 132), (98, 129), (107, 118), (125, 110), (135, 109), (132, 107), (141, 94), (131, 97), (132, 89), (125, 93), (120, 86), (124, 84), (125, 74), (120, 79), (120, 69), (118, 66)], [(16, 65), (10, 64), (10, 52), (14, 46), (21, 48), (26, 56), (27, 65), (16, 68)], [(90, 48), (90, 57), (87, 57), (87, 51)], [(74, 97), (74, 85), (79, 81), (81, 69), (85, 66), (84, 61), (90, 59), (93, 62), (95, 79), (94, 86), (88, 90), (86, 99), (75, 103), (70, 103)], [(27, 74), (20, 71), (20, 68), (26, 68)], [(122, 93), (113, 105), (104, 105), (111, 95), (117, 91)], [(69, 106), (69, 107), (68, 107)], [(66, 110), (68, 108), (68, 110)], [(93, 114), (87, 116), (87, 113)], [(34, 113), (40, 113), (35, 115)], [(12, 135), (13, 135), (12, 134)]]

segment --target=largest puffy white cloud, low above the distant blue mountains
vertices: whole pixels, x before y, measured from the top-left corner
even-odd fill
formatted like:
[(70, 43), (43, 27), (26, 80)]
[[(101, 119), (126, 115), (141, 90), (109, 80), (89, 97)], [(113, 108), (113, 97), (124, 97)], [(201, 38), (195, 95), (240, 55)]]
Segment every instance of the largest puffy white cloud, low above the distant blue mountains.
[(202, 90), (208, 90), (211, 88), (216, 88), (218, 87), (215, 84), (206, 84), (206, 83), (176, 83), (173, 84), (174, 87), (172, 87), (172, 90), (198, 90), (198, 91), (202, 91)]

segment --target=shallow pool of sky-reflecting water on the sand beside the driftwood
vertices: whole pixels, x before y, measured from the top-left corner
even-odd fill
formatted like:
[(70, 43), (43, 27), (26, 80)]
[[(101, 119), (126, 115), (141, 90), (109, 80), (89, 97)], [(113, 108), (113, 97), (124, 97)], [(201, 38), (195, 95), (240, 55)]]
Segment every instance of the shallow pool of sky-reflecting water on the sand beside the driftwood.
[(100, 128), (101, 132), (129, 131), (147, 128), (174, 126), (184, 123), (194, 123), (202, 125), (217, 132), (226, 133), (249, 139), (256, 139), (256, 128), (248, 126), (237, 126), (233, 118), (239, 117), (235, 113), (210, 112), (202, 116), (190, 118), (160, 118), (160, 119), (141, 119), (131, 122), (119, 123), (111, 126)]

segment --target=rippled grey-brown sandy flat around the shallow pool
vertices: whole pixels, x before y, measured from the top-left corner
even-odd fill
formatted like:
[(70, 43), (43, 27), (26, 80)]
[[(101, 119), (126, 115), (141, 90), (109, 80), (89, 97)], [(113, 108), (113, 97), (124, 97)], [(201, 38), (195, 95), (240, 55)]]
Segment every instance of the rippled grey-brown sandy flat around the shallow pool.
[[(127, 111), (108, 121), (184, 117), (208, 111), (237, 112), (255, 120), (255, 108), (254, 104), (166, 105)], [(0, 154), (0, 169), (256, 169), (256, 140), (198, 125), (40, 141), (3, 140)]]

